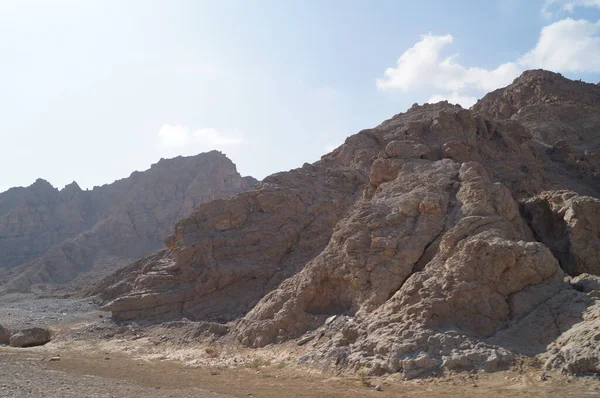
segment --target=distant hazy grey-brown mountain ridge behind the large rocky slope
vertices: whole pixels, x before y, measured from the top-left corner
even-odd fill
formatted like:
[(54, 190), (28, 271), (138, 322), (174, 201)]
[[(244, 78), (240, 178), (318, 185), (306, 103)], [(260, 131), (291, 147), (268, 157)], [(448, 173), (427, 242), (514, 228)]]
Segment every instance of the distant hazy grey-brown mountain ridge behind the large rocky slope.
[(82, 190), (38, 179), (0, 193), (0, 281), (4, 291), (106, 274), (163, 245), (199, 204), (256, 183), (212, 151), (161, 159), (144, 172)]

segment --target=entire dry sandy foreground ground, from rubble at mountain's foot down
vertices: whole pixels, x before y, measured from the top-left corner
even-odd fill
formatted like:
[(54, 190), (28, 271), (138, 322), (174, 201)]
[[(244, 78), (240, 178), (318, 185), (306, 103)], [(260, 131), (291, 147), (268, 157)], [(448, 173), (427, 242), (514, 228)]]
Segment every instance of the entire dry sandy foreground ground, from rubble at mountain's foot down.
[(160, 325), (117, 324), (94, 312), (50, 326), (56, 335), (45, 346), (0, 347), (0, 397), (600, 396), (597, 379), (542, 372), (531, 360), (491, 374), (400, 381), (315, 372), (292, 359), (301, 349), (295, 344), (253, 350), (211, 339), (186, 342), (182, 330), (167, 336)]

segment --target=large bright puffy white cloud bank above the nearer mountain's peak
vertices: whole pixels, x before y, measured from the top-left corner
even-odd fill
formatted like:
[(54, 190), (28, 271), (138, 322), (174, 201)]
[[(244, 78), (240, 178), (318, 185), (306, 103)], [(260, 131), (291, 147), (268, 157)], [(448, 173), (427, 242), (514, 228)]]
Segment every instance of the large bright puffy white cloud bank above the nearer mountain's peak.
[[(600, 0), (594, 0), (599, 3)], [(591, 4), (591, 0), (590, 0)], [(542, 68), (555, 72), (600, 72), (600, 21), (566, 18), (545, 26), (537, 45), (524, 56), (494, 69), (463, 66), (458, 55), (442, 56), (452, 35), (425, 35), (406, 50), (396, 66), (377, 79), (382, 91), (434, 92), (430, 102), (448, 100), (469, 107), (473, 94), (484, 94), (510, 84), (525, 69)]]

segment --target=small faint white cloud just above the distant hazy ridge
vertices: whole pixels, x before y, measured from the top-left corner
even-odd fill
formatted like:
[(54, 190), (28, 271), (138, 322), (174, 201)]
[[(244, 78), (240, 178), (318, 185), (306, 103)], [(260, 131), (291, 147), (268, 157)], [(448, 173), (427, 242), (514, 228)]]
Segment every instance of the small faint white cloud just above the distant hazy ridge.
[(193, 143), (216, 148), (222, 146), (235, 146), (244, 142), (238, 131), (228, 135), (213, 128), (202, 128), (192, 131), (187, 126), (163, 124), (158, 131), (158, 138), (163, 146), (181, 147)]

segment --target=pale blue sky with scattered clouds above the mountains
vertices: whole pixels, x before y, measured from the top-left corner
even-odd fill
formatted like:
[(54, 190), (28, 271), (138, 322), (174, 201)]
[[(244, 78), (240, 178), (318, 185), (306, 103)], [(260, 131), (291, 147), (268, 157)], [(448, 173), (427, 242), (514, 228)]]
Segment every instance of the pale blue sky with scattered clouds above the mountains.
[(0, 0), (0, 192), (213, 149), (262, 179), (532, 68), (600, 81), (600, 0)]

